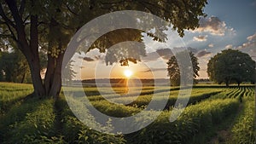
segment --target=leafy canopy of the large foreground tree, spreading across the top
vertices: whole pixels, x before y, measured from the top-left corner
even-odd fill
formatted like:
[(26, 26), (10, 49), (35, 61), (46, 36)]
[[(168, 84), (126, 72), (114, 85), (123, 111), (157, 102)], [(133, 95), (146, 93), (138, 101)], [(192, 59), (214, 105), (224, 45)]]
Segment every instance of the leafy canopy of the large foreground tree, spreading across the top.
[[(30, 35), (30, 25), (32, 24), (31, 18), (32, 15), (36, 16), (38, 19), (38, 43), (42, 49), (47, 49), (49, 55), (56, 58), (61, 55), (61, 53), (65, 52), (67, 43), (81, 26), (97, 16), (119, 10), (139, 10), (155, 14), (168, 21), (169, 26), (172, 24), (172, 30), (177, 31), (179, 35), (183, 37), (184, 30), (194, 30), (199, 26), (199, 17), (206, 16), (206, 14), (203, 13), (203, 8), (207, 4), (207, 0), (177, 0), (172, 2), (154, 0), (17, 0), (9, 3), (15, 3), (19, 15), (14, 15), (10, 12), (9, 6), (6, 3), (1, 5), (0, 25), (2, 27), (1, 31), (3, 32), (2, 37), (13, 38), (19, 43), (19, 32), (16, 32), (15, 26), (15, 16), (19, 16), (26, 30), (26, 39), (29, 41), (32, 37)], [(144, 25), (149, 26), (151, 24), (148, 21), (144, 21)], [(156, 32), (163, 32), (165, 30), (165, 28), (162, 28), (156, 30)], [(127, 39), (140, 42), (141, 37), (143, 37), (140, 31), (130, 30), (129, 33), (131, 38), (116, 38), (117, 36), (120, 36), (120, 32), (124, 33), (123, 30), (107, 33), (104, 37), (100, 38), (91, 49), (96, 48), (101, 52), (105, 52), (105, 49), (109, 48), (109, 44), (113, 45)], [(150, 37), (154, 37), (156, 32), (147, 34)], [(106, 38), (112, 39), (112, 42), (108, 43), (104, 41)], [(164, 39), (165, 38), (162, 37), (154, 37), (154, 40), (158, 41), (164, 41)], [(127, 63), (127, 60), (121, 61)], [(113, 63), (114, 61), (109, 62)]]

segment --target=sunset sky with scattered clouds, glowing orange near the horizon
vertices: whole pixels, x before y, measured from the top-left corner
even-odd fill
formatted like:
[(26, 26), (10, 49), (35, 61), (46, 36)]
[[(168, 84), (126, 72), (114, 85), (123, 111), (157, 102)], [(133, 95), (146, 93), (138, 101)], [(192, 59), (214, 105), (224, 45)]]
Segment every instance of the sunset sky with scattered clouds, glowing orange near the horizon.
[[(189, 48), (198, 57), (201, 71), (199, 78), (207, 78), (207, 62), (223, 49), (240, 49), (256, 60), (256, 1), (255, 0), (209, 0), (205, 8), (206, 18), (200, 20), (195, 31), (186, 31), (183, 38), (177, 32), (166, 32), (166, 43), (158, 43), (144, 37), (146, 57), (142, 62), (130, 66), (106, 66), (104, 54), (96, 49), (84, 57), (82, 64), (76, 64), (76, 79), (85, 78), (125, 78), (126, 69), (131, 77), (168, 78), (166, 62), (178, 49)], [(155, 55), (157, 54), (157, 55)], [(79, 57), (79, 56), (78, 56)], [(77, 69), (77, 70), (78, 70)]]

